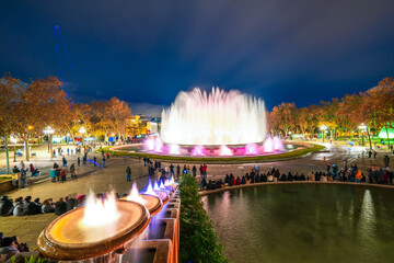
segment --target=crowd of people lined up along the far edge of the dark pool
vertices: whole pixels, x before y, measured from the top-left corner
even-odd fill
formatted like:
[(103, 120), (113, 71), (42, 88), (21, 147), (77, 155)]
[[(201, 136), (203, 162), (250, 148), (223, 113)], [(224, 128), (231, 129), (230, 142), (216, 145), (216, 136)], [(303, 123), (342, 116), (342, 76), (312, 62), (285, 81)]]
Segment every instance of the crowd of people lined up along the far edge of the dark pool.
[(328, 164), (326, 171), (315, 171), (304, 173), (281, 173), (279, 169), (271, 167), (266, 173), (260, 173), (259, 169), (253, 168), (251, 172), (242, 176), (234, 176), (232, 173), (225, 174), (224, 180), (209, 180), (202, 176), (200, 182), (201, 190), (216, 190), (224, 186), (265, 183), (265, 182), (292, 182), (292, 181), (316, 181), (316, 182), (369, 182), (374, 184), (393, 184), (394, 173), (389, 168), (369, 168), (368, 174), (363, 174), (352, 164), (350, 168), (341, 168), (336, 164)]

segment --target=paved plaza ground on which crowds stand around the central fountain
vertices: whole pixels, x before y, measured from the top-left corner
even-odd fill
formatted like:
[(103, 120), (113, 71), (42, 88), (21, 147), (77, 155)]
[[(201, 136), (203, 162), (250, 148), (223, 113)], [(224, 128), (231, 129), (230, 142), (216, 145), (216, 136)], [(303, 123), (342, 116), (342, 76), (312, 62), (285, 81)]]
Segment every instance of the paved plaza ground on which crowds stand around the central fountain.
[[(382, 167), (383, 157), (389, 153), (387, 151), (381, 150), (379, 151), (376, 159), (369, 159), (368, 155), (366, 155), (366, 152), (362, 153), (363, 151), (360, 148), (349, 150), (349, 148), (345, 146), (331, 146), (328, 144), (326, 146), (328, 150), (324, 152), (316, 152), (304, 158), (288, 161), (258, 163), (257, 165), (262, 172), (267, 171), (270, 167), (276, 167), (280, 169), (280, 172), (285, 173), (289, 171), (308, 173), (311, 171), (325, 170), (327, 163), (336, 163), (340, 168), (344, 165), (345, 160), (347, 160), (349, 167), (357, 163), (361, 171), (366, 172), (367, 168), (370, 165)], [(37, 157), (31, 160), (34, 165), (42, 170), (42, 175), (34, 179), (30, 178), (26, 188), (15, 190), (7, 193), (7, 195), (12, 198), (31, 195), (33, 198), (39, 197), (42, 202), (45, 198), (51, 197), (56, 202), (60, 197), (86, 194), (90, 190), (95, 193), (105, 192), (109, 188), (109, 185), (115, 192), (123, 195), (124, 193), (129, 192), (132, 184), (132, 182), (127, 182), (126, 180), (125, 170), (127, 165), (130, 165), (131, 168), (131, 181), (135, 181), (140, 190), (147, 186), (150, 179), (148, 176), (148, 169), (143, 165), (142, 161), (139, 162), (136, 159), (125, 157), (111, 157), (104, 169), (92, 164), (83, 165), (81, 163), (81, 167), (77, 168), (77, 180), (71, 180), (70, 173), (68, 172), (66, 182), (53, 183), (49, 179), (49, 170), (53, 167), (54, 161), (61, 165), (61, 158), (57, 157), (50, 159), (45, 149), (44, 146), (36, 148), (35, 151), (37, 152)], [(2, 152), (0, 155), (0, 165), (4, 169), (4, 153)], [(97, 157), (97, 162), (101, 163), (101, 153), (90, 153), (89, 158), (93, 158), (93, 155)], [(324, 157), (326, 159), (325, 161), (323, 160)], [(66, 156), (66, 158), (68, 160), (68, 165), (72, 162), (77, 163), (77, 156)], [(26, 167), (31, 162), (26, 162)], [(12, 162), (11, 164), (14, 165), (18, 163)], [(167, 163), (162, 162), (162, 167), (166, 164)], [(176, 165), (176, 163), (174, 164)], [(181, 167), (185, 163), (179, 163)], [(253, 167), (255, 167), (255, 163), (208, 164), (208, 176), (209, 179), (223, 179), (227, 173), (233, 173), (235, 176), (244, 175), (246, 172), (250, 172)], [(27, 172), (27, 175), (30, 175), (30, 172)], [(2, 193), (2, 195), (4, 193)], [(1, 217), (0, 232), (3, 232), (4, 236), (19, 236), (23, 242), (27, 242), (32, 249), (35, 249), (35, 242), (39, 232), (54, 218), (56, 218), (54, 214)]]

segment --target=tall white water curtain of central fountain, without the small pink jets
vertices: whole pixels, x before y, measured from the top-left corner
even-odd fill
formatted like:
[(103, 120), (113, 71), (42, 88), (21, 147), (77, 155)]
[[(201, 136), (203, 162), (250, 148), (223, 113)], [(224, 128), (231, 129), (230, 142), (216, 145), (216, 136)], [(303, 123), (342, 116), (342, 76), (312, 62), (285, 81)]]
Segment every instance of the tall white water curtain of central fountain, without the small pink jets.
[(195, 88), (179, 92), (162, 112), (161, 138), (177, 145), (245, 145), (262, 142), (266, 134), (265, 106), (260, 99), (239, 91)]

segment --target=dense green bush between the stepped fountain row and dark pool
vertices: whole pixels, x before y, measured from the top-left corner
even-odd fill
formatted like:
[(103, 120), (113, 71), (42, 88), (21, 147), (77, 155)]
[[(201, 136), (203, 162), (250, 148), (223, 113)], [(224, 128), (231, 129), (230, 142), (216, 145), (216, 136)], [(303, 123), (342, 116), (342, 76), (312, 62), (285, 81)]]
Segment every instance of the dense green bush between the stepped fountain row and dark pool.
[(186, 174), (181, 190), (179, 262), (229, 262), (213, 222), (202, 207), (196, 179)]

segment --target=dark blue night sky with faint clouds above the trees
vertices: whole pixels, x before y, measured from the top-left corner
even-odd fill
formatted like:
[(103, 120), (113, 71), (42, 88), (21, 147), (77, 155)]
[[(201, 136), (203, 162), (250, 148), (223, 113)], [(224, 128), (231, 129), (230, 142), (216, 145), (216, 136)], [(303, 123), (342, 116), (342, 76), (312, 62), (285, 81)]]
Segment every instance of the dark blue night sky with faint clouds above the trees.
[(137, 114), (218, 85), (305, 106), (394, 76), (393, 13), (393, 0), (2, 0), (0, 72), (60, 78), (58, 24), (78, 102), (118, 96)]

